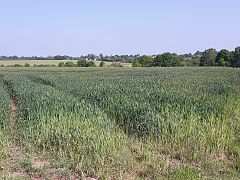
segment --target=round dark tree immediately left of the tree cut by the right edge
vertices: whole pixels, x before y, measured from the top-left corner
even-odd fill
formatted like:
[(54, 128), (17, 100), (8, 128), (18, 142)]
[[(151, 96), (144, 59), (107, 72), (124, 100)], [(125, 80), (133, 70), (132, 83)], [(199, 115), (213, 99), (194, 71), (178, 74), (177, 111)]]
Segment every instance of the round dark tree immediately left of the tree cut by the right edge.
[(226, 49), (222, 49), (218, 52), (216, 57), (216, 65), (219, 66), (230, 66), (233, 61), (233, 53), (229, 52)]

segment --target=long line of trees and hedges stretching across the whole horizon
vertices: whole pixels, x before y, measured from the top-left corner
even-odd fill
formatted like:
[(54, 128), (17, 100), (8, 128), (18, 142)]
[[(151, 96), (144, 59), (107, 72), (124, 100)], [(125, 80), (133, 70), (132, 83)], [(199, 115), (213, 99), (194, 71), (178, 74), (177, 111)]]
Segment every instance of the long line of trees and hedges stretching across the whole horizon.
[[(204, 52), (197, 51), (195, 54), (181, 54), (166, 52), (159, 55), (111, 55), (103, 54), (72, 57), (72, 56), (48, 56), (48, 57), (18, 57), (0, 56), (0, 60), (78, 60), (78, 63), (59, 63), (59, 67), (95, 67), (94, 61), (133, 63), (133, 67), (178, 67), (178, 66), (227, 66), (240, 67), (240, 47), (234, 51), (222, 49), (219, 52), (210, 48)], [(117, 64), (118, 65), (118, 64)]]

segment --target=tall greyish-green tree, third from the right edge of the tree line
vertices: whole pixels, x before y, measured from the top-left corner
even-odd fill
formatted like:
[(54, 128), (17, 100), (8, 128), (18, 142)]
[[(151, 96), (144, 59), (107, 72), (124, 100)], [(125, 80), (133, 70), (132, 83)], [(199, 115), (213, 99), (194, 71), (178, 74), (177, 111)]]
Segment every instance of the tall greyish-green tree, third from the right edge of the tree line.
[(203, 52), (200, 58), (200, 66), (214, 66), (217, 57), (217, 51), (213, 48)]

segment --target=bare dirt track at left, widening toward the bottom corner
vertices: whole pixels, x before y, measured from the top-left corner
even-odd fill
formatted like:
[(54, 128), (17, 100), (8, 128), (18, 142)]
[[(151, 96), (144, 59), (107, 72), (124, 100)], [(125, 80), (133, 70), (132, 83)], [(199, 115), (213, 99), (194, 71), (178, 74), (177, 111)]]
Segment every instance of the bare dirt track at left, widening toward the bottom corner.
[(35, 153), (27, 153), (16, 142), (14, 137), (16, 136), (16, 122), (18, 119), (18, 101), (14, 95), (14, 90), (11, 83), (4, 81), (5, 90), (10, 96), (10, 108), (11, 113), (7, 121), (7, 130), (12, 137), (12, 143), (10, 146), (10, 158), (9, 158), (9, 178), (11, 179), (32, 179), (32, 180), (65, 180), (78, 179), (76, 176), (66, 174), (62, 169), (55, 168), (50, 162), (43, 160)]

